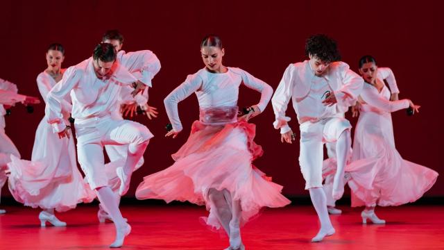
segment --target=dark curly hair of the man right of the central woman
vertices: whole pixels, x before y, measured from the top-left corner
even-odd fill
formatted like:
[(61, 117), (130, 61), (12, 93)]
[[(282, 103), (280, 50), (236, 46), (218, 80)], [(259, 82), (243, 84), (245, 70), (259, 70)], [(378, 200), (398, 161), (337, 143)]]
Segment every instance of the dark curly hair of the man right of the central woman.
[(305, 56), (316, 56), (325, 63), (341, 60), (336, 42), (327, 35), (311, 35), (305, 42)]

